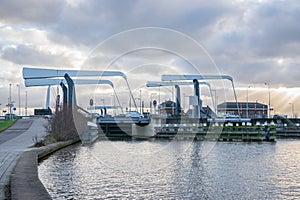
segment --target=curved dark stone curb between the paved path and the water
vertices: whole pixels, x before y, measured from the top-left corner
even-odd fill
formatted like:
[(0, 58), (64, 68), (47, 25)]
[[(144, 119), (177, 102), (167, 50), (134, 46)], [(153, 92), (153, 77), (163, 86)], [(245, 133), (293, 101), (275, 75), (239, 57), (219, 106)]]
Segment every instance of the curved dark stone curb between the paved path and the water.
[(38, 161), (55, 151), (79, 142), (80, 139), (57, 142), (24, 152), (10, 175), (10, 197), (13, 200), (46, 200), (49, 193), (38, 176)]

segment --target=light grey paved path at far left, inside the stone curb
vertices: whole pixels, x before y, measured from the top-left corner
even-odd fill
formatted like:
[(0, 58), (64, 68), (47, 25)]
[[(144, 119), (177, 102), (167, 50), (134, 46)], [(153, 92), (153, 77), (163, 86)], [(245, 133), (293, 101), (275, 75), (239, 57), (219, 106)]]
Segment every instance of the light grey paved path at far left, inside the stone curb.
[(0, 133), (0, 200), (5, 199), (9, 176), (20, 155), (30, 150), (33, 138), (46, 135), (44, 126), (47, 120), (20, 119), (7, 130)]

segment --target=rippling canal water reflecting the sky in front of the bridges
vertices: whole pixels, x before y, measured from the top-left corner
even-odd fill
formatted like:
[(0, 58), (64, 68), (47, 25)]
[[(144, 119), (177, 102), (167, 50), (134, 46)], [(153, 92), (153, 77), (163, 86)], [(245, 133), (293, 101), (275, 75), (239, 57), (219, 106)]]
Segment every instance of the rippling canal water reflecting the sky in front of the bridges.
[(38, 170), (53, 199), (299, 199), (299, 161), (300, 140), (97, 141)]

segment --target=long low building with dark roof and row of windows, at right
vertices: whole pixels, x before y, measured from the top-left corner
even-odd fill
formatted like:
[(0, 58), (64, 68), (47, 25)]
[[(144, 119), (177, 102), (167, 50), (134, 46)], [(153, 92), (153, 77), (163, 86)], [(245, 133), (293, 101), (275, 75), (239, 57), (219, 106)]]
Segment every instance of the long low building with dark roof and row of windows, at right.
[(267, 118), (268, 105), (258, 102), (224, 102), (217, 105), (218, 114), (238, 115), (238, 108), (242, 118)]

